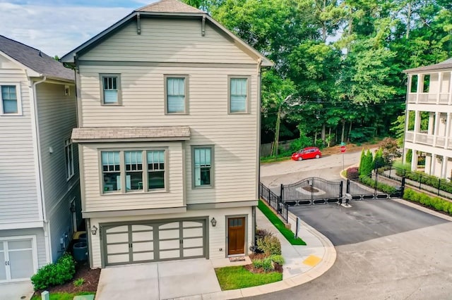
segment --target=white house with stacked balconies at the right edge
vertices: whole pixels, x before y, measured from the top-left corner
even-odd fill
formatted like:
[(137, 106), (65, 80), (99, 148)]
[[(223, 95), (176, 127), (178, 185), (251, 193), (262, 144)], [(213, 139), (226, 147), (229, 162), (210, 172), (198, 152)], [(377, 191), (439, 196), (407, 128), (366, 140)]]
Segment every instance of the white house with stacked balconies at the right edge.
[[(403, 161), (412, 150), (411, 170), (417, 170), (419, 156), (425, 156), (424, 172), (452, 177), (452, 58), (435, 65), (405, 70), (408, 74), (405, 115), (415, 115), (414, 126), (405, 123)], [(427, 123), (422, 128), (421, 123)]]

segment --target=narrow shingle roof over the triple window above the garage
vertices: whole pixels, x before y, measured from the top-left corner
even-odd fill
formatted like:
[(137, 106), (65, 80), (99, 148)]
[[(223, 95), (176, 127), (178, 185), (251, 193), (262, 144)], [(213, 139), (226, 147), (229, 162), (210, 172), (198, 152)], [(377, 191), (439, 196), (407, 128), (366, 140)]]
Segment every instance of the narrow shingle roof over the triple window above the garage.
[(75, 142), (188, 140), (190, 127), (81, 127), (72, 130), (71, 139)]

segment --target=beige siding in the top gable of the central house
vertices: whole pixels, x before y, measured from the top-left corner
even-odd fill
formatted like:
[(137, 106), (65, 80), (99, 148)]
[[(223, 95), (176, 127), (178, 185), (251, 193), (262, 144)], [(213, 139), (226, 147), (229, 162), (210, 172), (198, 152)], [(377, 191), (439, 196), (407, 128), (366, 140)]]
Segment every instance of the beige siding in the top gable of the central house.
[(164, 18), (141, 18), (141, 35), (136, 32), (136, 23), (131, 22), (82, 54), (80, 60), (256, 63), (208, 22), (203, 37), (201, 19)]

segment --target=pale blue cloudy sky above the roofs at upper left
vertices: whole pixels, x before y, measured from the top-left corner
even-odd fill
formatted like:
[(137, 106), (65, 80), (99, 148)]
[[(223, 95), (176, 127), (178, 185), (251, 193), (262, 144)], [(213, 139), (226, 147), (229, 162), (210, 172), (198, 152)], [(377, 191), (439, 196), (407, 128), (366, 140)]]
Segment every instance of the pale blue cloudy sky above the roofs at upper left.
[(0, 0), (0, 35), (61, 57), (155, 1)]

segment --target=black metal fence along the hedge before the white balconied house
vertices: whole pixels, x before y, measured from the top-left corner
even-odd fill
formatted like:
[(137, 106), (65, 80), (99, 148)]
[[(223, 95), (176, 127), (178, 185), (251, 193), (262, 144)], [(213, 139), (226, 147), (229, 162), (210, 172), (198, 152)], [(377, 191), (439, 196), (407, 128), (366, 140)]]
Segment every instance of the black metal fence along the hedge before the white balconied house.
[(423, 174), (420, 172), (412, 172), (401, 168), (391, 166), (388, 170), (380, 173), (384, 177), (391, 180), (399, 180), (405, 178), (406, 185), (415, 187), (420, 190), (436, 194), (446, 199), (452, 199), (452, 182), (441, 179), (436, 176)]

